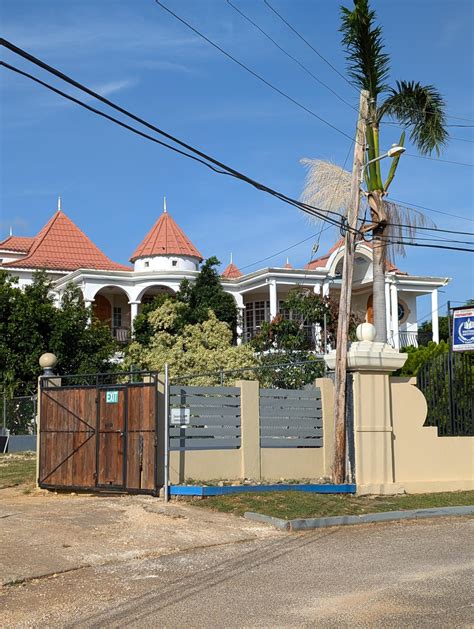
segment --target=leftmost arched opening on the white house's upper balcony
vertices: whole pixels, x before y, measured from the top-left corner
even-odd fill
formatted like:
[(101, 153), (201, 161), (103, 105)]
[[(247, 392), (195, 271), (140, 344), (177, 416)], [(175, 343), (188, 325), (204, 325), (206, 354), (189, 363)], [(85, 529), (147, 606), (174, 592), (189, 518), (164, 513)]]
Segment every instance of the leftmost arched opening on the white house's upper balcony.
[(110, 326), (112, 336), (119, 343), (130, 339), (130, 306), (127, 293), (119, 286), (105, 286), (92, 302), (93, 316)]

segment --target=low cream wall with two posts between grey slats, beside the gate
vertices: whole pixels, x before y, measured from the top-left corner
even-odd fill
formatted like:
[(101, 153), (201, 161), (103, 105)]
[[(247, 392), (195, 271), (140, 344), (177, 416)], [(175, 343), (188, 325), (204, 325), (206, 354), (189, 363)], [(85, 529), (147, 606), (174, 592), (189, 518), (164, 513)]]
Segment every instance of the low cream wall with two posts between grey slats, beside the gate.
[[(334, 452), (334, 386), (320, 378), (323, 438), (321, 447), (261, 448), (259, 383), (241, 380), (241, 447), (170, 453), (170, 482), (251, 479), (320, 479), (331, 476)], [(161, 394), (160, 394), (161, 395)]]

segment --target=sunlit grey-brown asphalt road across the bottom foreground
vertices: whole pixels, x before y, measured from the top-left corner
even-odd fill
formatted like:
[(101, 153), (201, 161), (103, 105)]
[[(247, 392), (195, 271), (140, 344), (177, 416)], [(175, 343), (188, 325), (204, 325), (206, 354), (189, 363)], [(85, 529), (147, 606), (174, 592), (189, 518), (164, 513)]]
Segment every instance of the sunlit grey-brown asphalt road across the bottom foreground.
[(341, 527), (83, 568), (5, 588), (2, 624), (473, 626), (473, 533), (472, 518)]

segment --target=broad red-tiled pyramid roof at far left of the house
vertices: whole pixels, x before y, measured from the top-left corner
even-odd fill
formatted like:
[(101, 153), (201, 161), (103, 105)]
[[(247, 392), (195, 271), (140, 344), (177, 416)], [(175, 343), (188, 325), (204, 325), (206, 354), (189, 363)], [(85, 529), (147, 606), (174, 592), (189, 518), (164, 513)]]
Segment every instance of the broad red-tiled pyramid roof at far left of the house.
[(26, 258), (5, 262), (4, 266), (58, 271), (76, 271), (81, 268), (103, 271), (132, 270), (123, 264), (112, 262), (61, 211), (56, 212), (33, 239)]

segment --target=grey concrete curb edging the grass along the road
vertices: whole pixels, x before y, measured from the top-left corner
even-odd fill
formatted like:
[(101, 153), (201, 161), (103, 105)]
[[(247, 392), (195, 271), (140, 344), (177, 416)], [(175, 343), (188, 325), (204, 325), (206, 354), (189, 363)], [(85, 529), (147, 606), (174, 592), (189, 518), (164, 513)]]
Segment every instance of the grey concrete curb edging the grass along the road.
[(384, 511), (382, 513), (365, 513), (364, 515), (339, 515), (330, 518), (307, 518), (283, 520), (262, 513), (246, 511), (244, 518), (255, 522), (270, 524), (280, 531), (305, 531), (329, 526), (348, 526), (368, 524), (371, 522), (391, 522), (396, 520), (419, 520), (423, 518), (440, 518), (450, 515), (474, 515), (474, 505), (461, 507), (439, 507), (434, 509), (412, 509), (410, 511)]

